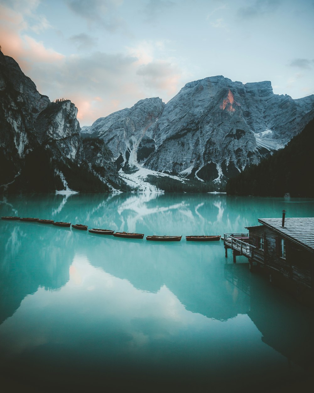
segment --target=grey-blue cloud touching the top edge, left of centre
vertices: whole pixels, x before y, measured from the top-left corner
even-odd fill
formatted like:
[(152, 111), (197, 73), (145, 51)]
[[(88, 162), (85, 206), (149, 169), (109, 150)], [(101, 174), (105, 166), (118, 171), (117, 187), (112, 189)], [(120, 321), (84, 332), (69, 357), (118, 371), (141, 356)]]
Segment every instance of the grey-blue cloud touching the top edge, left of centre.
[(124, 26), (117, 12), (121, 0), (67, 0), (66, 3), (73, 13), (85, 19), (89, 25), (96, 23), (110, 32)]

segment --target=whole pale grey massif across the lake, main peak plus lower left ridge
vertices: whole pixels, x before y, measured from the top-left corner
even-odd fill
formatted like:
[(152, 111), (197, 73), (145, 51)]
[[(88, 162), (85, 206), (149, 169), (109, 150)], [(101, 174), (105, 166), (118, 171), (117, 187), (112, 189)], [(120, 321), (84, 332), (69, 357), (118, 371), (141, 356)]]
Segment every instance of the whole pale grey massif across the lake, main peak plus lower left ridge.
[(102, 138), (125, 173), (146, 168), (225, 184), (312, 118), (314, 95), (294, 100), (274, 94), (269, 81), (215, 76), (187, 83), (167, 104), (145, 99), (97, 119), (82, 134)]

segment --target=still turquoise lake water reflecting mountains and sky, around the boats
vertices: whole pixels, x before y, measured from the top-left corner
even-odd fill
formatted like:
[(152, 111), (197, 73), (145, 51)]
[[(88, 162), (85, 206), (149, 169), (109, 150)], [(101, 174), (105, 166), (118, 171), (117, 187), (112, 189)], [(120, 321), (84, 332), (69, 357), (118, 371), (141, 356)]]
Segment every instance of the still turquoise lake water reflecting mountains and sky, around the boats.
[[(270, 391), (309, 375), (311, 310), (223, 242), (314, 200), (210, 194), (10, 196), (1, 216), (183, 235), (147, 242), (0, 222), (0, 373), (23, 391)], [(13, 386), (12, 385), (12, 386)], [(106, 389), (105, 389), (106, 388)]]

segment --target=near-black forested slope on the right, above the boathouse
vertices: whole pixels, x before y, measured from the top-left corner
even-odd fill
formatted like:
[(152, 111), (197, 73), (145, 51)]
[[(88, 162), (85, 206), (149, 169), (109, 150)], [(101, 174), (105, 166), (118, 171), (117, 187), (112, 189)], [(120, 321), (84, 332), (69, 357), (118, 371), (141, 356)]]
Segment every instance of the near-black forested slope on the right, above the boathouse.
[(314, 197), (314, 119), (288, 145), (230, 179), (230, 195)]

